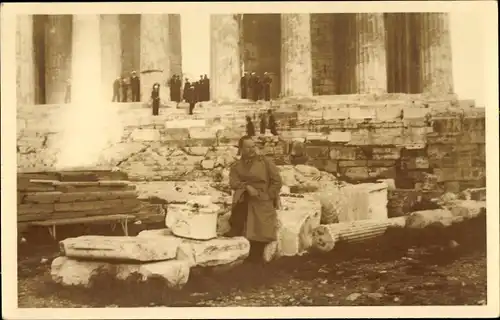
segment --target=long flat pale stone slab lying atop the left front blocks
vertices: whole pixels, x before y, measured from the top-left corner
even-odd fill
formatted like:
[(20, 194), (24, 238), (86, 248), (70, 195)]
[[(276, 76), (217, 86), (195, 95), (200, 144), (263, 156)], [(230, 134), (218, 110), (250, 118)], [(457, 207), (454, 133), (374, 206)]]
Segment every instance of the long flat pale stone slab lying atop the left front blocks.
[(61, 253), (70, 258), (92, 260), (161, 261), (174, 259), (179, 239), (81, 236), (59, 242)]

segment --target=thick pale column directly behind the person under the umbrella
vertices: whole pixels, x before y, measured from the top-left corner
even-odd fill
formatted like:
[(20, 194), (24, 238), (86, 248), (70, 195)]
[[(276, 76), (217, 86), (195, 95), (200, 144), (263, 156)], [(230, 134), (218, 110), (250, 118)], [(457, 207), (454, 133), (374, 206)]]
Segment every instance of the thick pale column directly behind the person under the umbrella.
[[(169, 15), (141, 15), (141, 101), (148, 102), (155, 83), (160, 84), (160, 100), (170, 100)], [(140, 71), (140, 73), (139, 73)]]

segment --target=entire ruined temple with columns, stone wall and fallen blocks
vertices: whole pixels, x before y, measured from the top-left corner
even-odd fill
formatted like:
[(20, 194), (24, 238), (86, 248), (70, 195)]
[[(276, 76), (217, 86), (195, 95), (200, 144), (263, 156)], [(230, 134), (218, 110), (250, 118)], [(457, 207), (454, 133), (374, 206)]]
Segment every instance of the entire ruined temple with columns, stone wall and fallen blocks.
[[(67, 152), (61, 139), (74, 146), (90, 139), (68, 137), (73, 123), (61, 121), (72, 112), (63, 103), (66, 79), (102, 74), (88, 86), (76, 81), (72, 93), (82, 97), (102, 94), (124, 71), (163, 70), (143, 76), (148, 88), (155, 77), (181, 73), (181, 18), (18, 17), (19, 230), (110, 214), (165, 221), (164, 229), (137, 236), (62, 240), (55, 281), (88, 286), (105, 271), (119, 279), (160, 276), (180, 287), (190, 270), (244, 260), (246, 239), (220, 237), (230, 213), (228, 167), (245, 116), (257, 123), (268, 109), (279, 136), (255, 139), (284, 184), (279, 240), (268, 260), (331, 251), (336, 242), (365, 241), (388, 228), (446, 227), (485, 214), (485, 112), (453, 92), (444, 13), (214, 15), (211, 101), (190, 116), (184, 104), (164, 98), (152, 116), (147, 99), (110, 103), (103, 95), (89, 108), (119, 134), (81, 118), (106, 143), (93, 150), (91, 166), (59, 168)], [(46, 27), (33, 27), (40, 23)], [(124, 34), (137, 40), (121, 41)], [(69, 54), (71, 47), (82, 52)], [(85, 64), (89, 54), (102, 59)], [(239, 99), (242, 70), (271, 72), (273, 101)], [(424, 202), (439, 209), (415, 209)]]

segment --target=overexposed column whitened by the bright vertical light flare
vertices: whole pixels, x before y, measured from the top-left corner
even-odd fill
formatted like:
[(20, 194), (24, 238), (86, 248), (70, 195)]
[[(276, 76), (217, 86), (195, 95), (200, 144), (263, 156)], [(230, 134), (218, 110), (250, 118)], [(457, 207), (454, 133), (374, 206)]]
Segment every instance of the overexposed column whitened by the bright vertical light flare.
[(97, 14), (73, 15), (71, 103), (92, 103), (103, 97), (100, 22)]

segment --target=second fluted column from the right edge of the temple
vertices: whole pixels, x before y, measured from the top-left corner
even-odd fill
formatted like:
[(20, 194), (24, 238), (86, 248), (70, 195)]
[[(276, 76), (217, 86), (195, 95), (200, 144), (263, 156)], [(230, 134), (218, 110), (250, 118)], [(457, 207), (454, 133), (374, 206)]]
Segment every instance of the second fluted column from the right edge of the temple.
[(357, 13), (354, 17), (355, 93), (387, 92), (383, 13)]

